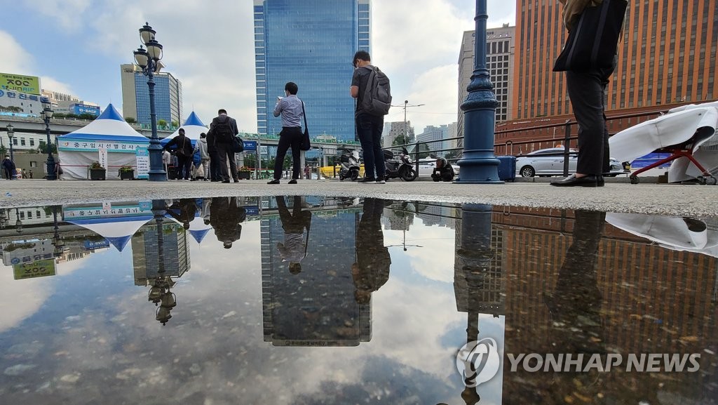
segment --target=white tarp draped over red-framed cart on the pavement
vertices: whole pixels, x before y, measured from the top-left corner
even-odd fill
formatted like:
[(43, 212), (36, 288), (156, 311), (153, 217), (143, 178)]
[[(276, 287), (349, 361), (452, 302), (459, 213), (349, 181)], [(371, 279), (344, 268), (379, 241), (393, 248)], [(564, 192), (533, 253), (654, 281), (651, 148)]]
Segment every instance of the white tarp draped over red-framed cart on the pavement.
[[(668, 110), (668, 114), (624, 129), (610, 137), (608, 142), (612, 158), (630, 162), (661, 147), (679, 145), (696, 135), (694, 158), (704, 168), (711, 170), (718, 165), (718, 150), (714, 150), (718, 143), (717, 127), (718, 101), (690, 104)], [(700, 171), (690, 160), (678, 158), (671, 163), (668, 181), (684, 181), (700, 175)]]

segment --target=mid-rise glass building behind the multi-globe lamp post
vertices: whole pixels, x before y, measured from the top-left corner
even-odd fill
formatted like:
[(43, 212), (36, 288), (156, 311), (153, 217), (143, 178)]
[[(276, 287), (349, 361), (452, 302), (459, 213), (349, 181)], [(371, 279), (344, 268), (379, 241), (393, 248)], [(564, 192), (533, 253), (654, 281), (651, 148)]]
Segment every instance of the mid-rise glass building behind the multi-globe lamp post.
[[(151, 124), (147, 76), (132, 64), (121, 65), (120, 70), (123, 117), (134, 118), (139, 124)], [(167, 72), (155, 73), (154, 83), (157, 121), (164, 119), (167, 124), (181, 124), (185, 118), (182, 113), (182, 83)]]

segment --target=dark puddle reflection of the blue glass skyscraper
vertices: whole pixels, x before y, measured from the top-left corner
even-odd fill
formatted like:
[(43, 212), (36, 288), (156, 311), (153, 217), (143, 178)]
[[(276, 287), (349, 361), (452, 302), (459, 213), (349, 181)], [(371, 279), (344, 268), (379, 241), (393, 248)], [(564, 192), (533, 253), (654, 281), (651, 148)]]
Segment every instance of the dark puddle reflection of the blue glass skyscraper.
[[(289, 201), (292, 201), (291, 199)], [(302, 199), (294, 199), (307, 212)], [(276, 199), (262, 201), (262, 306), (264, 340), (275, 346), (356, 346), (371, 338), (371, 305), (355, 301), (351, 268), (359, 209), (340, 209), (331, 216), (312, 207), (307, 255), (301, 271), (290, 272), (279, 246), (285, 241)], [(289, 207), (293, 211), (294, 204)], [(327, 211), (325, 211), (327, 212)]]

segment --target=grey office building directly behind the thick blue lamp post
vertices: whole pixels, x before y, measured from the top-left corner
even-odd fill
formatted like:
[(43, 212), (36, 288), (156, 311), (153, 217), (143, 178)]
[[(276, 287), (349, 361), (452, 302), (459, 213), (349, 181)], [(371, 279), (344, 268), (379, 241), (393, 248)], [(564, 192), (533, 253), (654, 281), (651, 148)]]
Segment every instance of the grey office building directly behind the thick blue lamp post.
[[(495, 122), (513, 119), (512, 99), (513, 90), (513, 38), (516, 27), (503, 24), (503, 27), (486, 30), (486, 68), (489, 70), (494, 94), (498, 101)], [(459, 53), (459, 116), (457, 119), (457, 136), (464, 135), (464, 112), (461, 104), (466, 100), (469, 92), (467, 87), (471, 83), (474, 71), (475, 32), (465, 31), (461, 41)]]

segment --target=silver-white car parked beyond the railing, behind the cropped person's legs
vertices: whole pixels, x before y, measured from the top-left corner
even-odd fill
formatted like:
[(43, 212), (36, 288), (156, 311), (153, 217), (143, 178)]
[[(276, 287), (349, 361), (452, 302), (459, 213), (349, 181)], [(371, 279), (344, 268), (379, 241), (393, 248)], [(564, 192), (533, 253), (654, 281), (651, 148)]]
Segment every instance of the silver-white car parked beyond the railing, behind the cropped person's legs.
[[(521, 177), (533, 176), (563, 176), (564, 156), (556, 155), (564, 153), (563, 147), (549, 147), (546, 149), (534, 150), (526, 155), (516, 158), (516, 174)], [(569, 151), (569, 173), (576, 172), (577, 149)], [(619, 174), (628, 173), (623, 165), (614, 158), (610, 158), (610, 174), (606, 176), (615, 177)]]

